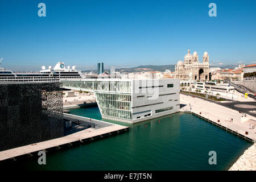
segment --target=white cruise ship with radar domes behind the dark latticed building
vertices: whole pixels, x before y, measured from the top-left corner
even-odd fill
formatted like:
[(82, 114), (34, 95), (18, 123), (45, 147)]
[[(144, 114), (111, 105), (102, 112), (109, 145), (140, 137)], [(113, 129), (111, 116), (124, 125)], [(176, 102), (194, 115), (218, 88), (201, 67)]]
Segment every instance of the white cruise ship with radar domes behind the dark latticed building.
[(54, 68), (51, 66), (46, 69), (45, 66), (39, 73), (14, 73), (0, 67), (0, 82), (15, 81), (15, 82), (59, 82), (60, 79), (81, 79), (84, 78), (80, 71), (77, 71), (75, 66), (65, 67), (63, 62), (59, 62)]

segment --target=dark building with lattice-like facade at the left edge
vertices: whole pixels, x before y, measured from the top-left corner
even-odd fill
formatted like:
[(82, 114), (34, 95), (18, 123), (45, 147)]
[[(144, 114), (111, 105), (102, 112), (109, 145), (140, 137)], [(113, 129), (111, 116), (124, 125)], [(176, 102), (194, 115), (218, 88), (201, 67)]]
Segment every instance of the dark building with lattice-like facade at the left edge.
[(0, 151), (63, 137), (60, 83), (0, 82)]

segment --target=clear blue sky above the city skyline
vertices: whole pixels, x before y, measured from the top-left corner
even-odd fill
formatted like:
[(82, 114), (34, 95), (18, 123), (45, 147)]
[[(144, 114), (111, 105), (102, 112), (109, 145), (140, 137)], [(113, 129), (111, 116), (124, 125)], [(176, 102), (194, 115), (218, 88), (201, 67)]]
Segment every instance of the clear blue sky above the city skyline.
[[(38, 3), (46, 3), (46, 17)], [(217, 5), (217, 17), (208, 5)], [(256, 61), (256, 1), (0, 1), (2, 66), (39, 71), (176, 64), (187, 49), (210, 63)], [(242, 62), (240, 62), (242, 63)]]

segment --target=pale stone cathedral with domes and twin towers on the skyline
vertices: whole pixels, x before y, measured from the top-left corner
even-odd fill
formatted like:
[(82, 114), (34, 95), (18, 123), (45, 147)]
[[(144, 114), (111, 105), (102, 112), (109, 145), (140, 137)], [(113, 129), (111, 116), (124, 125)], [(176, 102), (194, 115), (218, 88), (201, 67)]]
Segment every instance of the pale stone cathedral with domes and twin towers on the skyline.
[(204, 52), (203, 63), (199, 63), (197, 52), (191, 55), (188, 49), (183, 61), (178, 61), (175, 65), (175, 78), (180, 80), (211, 80), (209, 68), (209, 55)]

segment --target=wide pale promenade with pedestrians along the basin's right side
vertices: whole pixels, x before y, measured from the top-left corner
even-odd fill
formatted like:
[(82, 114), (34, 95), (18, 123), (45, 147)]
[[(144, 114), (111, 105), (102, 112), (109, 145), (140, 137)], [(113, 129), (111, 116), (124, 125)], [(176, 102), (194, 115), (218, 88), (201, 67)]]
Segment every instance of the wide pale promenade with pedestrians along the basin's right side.
[[(214, 104), (210, 101), (205, 101), (200, 98), (193, 98), (180, 94), (180, 104), (185, 104), (184, 110), (190, 110), (210, 121), (224, 126), (230, 130), (236, 131), (238, 134), (244, 135), (256, 142), (256, 118), (251, 115), (242, 117), (236, 110), (232, 110), (228, 107)], [(189, 104), (191, 106), (189, 106)], [(191, 109), (190, 109), (191, 108)], [(201, 112), (201, 114), (200, 114)], [(233, 119), (233, 122), (230, 121)], [(218, 122), (220, 120), (220, 122)], [(252, 127), (254, 126), (254, 129)], [(246, 132), (248, 134), (246, 134)]]

